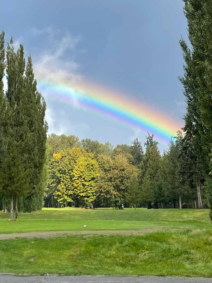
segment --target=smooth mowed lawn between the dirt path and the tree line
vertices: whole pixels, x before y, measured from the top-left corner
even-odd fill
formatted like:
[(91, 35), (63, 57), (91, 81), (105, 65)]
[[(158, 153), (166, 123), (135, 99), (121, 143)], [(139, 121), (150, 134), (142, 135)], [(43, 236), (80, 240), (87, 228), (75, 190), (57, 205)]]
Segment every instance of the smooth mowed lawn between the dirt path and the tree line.
[(0, 233), (32, 231), (211, 229), (208, 209), (43, 209), (19, 213), (16, 222), (0, 212)]

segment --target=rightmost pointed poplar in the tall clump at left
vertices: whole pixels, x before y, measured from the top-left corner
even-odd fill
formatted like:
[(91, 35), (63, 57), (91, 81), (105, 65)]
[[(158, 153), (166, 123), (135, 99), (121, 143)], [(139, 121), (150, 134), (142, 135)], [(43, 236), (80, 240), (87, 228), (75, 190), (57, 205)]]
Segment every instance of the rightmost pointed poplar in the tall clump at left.
[(27, 198), (23, 199), (27, 211), (42, 208), (47, 179), (43, 175), (46, 162), (47, 139), (47, 123), (45, 121), (46, 102), (41, 93), (37, 91), (36, 85), (37, 82), (34, 79), (32, 59), (31, 56), (29, 56), (24, 77), (24, 93), (25, 97), (27, 97), (24, 110), (28, 131), (28, 138), (25, 138), (24, 143), (24, 148), (28, 153), (25, 165), (26, 168), (32, 172), (32, 189), (27, 195)]

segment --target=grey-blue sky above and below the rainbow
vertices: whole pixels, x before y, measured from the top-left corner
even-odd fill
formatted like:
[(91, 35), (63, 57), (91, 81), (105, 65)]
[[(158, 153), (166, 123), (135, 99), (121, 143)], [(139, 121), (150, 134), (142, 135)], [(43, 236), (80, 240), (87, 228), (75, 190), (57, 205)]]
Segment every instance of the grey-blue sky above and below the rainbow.
[[(86, 78), (148, 104), (183, 126), (181, 35), (187, 22), (181, 0), (1, 1), (6, 40), (31, 53), (35, 74)], [(42, 93), (49, 132), (100, 142), (144, 143), (146, 133), (74, 108)], [(167, 149), (160, 144), (160, 150)]]

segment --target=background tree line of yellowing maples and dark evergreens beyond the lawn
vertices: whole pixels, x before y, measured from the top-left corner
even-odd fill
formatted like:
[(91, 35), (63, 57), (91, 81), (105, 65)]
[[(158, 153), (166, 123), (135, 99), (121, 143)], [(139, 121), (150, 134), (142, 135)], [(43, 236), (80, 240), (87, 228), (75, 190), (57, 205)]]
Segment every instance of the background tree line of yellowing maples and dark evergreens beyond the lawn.
[[(76, 136), (47, 138), (49, 181), (46, 207), (207, 207), (204, 182), (185, 175), (181, 131), (161, 156), (154, 135), (142, 144), (117, 145)], [(199, 182), (199, 181), (198, 181)], [(200, 189), (201, 187), (201, 189)]]

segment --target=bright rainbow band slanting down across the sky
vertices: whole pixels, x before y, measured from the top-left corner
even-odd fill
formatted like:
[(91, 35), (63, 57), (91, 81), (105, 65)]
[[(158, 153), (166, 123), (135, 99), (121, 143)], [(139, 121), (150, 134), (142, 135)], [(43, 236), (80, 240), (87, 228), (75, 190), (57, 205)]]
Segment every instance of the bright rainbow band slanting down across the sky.
[(57, 101), (107, 116), (113, 121), (154, 134), (167, 143), (182, 125), (124, 94), (88, 82), (38, 79), (38, 89)]

